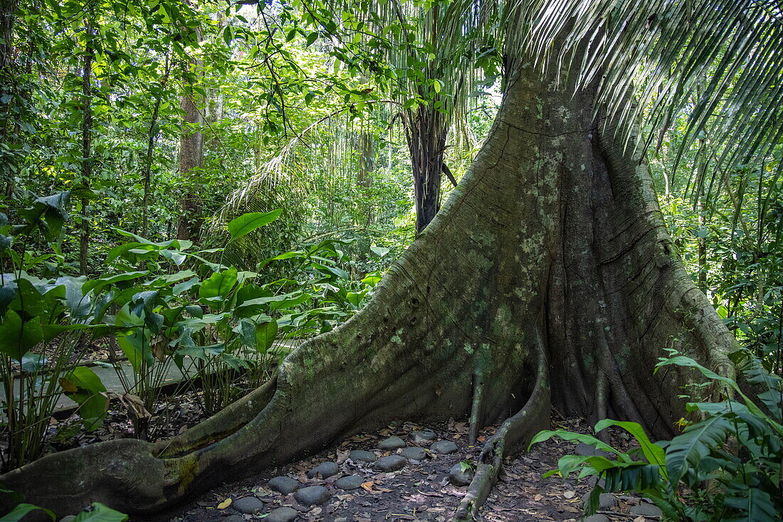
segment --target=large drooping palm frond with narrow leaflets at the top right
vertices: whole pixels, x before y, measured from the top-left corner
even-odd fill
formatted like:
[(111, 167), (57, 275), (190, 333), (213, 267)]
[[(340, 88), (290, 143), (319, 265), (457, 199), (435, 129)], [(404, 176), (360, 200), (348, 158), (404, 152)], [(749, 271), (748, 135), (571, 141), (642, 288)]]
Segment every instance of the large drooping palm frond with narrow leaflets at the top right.
[[(572, 74), (578, 85), (597, 83), (610, 116), (628, 123), (646, 113), (657, 128), (687, 110), (680, 154), (709, 139), (713, 176), (766, 157), (781, 142), (780, 0), (520, 2), (530, 22), (528, 49), (540, 62), (568, 65), (574, 49), (589, 42)], [(627, 103), (630, 96), (636, 103)]]

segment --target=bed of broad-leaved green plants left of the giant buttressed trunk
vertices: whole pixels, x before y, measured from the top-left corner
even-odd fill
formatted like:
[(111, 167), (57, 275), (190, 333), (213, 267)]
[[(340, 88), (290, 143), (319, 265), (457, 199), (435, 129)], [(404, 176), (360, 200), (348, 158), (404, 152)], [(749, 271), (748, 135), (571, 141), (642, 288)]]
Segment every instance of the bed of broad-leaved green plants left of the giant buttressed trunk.
[[(127, 410), (135, 437), (152, 439), (167, 422), (155, 414), (175, 401), (163, 390), (167, 380), (179, 381), (178, 369), (186, 378), (175, 394), (197, 391), (204, 413), (218, 412), (269, 378), (290, 351), (276, 340), (334, 328), (363, 306), (380, 279), (376, 273), (352, 282), (339, 266), (349, 262), (340, 241), (280, 254), (251, 272), (223, 265), (222, 249), (197, 250), (179, 239), (156, 243), (122, 230), (130, 240), (109, 251), (99, 275), (63, 275), (56, 261), (69, 200), (69, 193), (38, 198), (20, 212), (18, 225), (0, 214), (4, 470), (41, 455), (63, 394), (78, 403), (82, 430), (101, 426), (114, 400)], [(228, 224), (231, 240), (279, 215), (236, 218)], [(280, 260), (293, 261), (294, 274), (269, 281), (265, 266)], [(107, 391), (80, 365), (97, 337), (110, 339), (123, 393)], [(130, 373), (122, 366), (126, 358)]]

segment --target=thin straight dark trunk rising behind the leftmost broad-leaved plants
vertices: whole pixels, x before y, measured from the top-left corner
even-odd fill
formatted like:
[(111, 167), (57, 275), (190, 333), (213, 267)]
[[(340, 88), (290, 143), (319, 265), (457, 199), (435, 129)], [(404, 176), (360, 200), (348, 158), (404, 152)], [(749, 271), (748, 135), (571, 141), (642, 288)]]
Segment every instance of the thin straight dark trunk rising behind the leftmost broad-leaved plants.
[[(81, 76), (81, 95), (84, 117), (81, 123), (81, 182), (89, 188), (92, 179), (92, 23), (85, 22), (86, 38), (84, 65)], [(79, 269), (82, 274), (88, 271), (87, 253), (90, 244), (90, 219), (87, 212), (89, 200), (81, 199), (81, 235), (79, 236)]]

